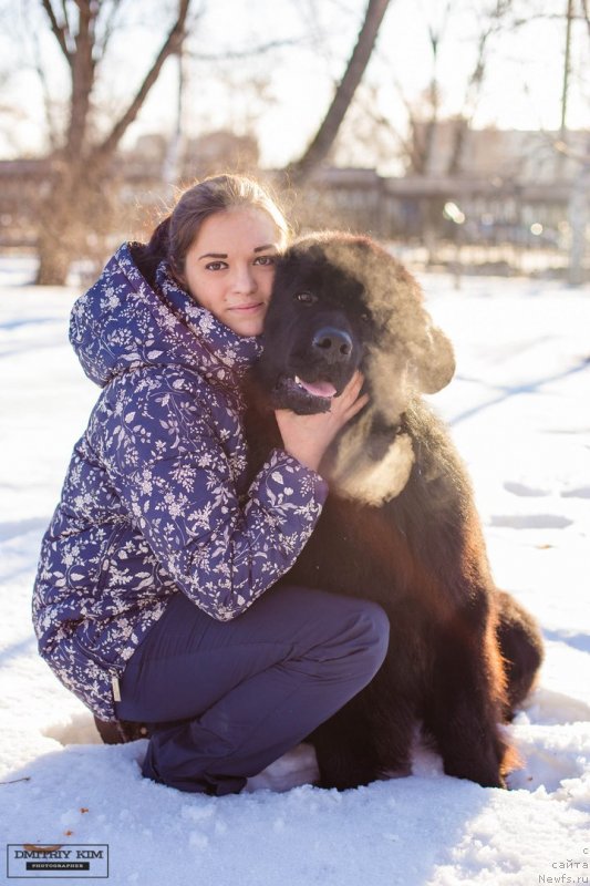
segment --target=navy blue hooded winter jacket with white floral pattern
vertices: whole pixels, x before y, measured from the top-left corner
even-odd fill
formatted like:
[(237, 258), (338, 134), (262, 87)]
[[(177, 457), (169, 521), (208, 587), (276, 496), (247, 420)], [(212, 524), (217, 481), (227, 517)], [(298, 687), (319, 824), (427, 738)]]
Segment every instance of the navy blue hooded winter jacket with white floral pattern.
[(152, 288), (123, 245), (72, 310), (70, 340), (103, 389), (43, 537), (39, 651), (102, 720), (172, 595), (239, 616), (294, 563), (324, 481), (284, 451), (248, 486), (239, 380), (261, 349), (179, 289)]

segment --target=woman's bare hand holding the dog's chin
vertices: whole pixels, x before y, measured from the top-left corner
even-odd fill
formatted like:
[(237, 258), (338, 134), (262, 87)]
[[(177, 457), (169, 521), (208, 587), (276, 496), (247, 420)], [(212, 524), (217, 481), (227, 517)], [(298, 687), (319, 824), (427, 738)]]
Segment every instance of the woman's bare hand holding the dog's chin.
[(356, 370), (340, 396), (333, 398), (330, 412), (297, 415), (287, 409), (276, 410), (284, 450), (306, 467), (317, 471), (338, 432), (369, 402), (366, 394), (360, 395), (363, 381)]

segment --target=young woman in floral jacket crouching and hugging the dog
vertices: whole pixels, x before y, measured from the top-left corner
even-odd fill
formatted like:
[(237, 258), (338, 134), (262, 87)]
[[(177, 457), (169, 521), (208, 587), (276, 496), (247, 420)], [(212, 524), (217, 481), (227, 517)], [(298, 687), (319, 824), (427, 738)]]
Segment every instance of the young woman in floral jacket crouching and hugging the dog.
[(238, 793), (387, 647), (375, 604), (276, 585), (318, 521), (318, 467), (364, 405), (362, 379), (330, 413), (278, 412), (283, 447), (246, 480), (240, 378), (286, 240), (257, 183), (209, 178), (72, 311), (102, 392), (43, 538), (39, 649), (97, 718), (148, 723), (143, 774), (183, 791)]

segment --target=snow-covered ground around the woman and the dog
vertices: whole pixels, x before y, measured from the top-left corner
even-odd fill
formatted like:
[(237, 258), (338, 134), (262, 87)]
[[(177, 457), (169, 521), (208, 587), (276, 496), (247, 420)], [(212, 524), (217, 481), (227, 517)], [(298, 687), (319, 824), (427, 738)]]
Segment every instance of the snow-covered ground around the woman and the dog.
[(247, 793), (215, 799), (143, 780), (145, 741), (99, 743), (91, 714), (38, 658), (30, 622), (41, 535), (97, 391), (68, 343), (76, 291), (35, 289), (4, 261), (4, 844), (108, 844), (108, 879), (91, 882), (114, 886), (590, 883), (590, 288), (423, 285), (457, 352), (433, 403), (469, 465), (496, 579), (540, 619), (547, 645), (540, 686), (510, 727), (525, 760), (513, 790), (447, 777), (416, 749), (410, 777), (322, 791), (301, 745)]

